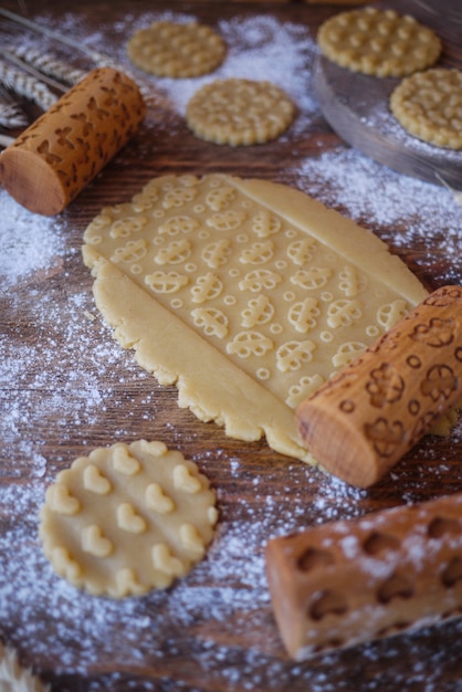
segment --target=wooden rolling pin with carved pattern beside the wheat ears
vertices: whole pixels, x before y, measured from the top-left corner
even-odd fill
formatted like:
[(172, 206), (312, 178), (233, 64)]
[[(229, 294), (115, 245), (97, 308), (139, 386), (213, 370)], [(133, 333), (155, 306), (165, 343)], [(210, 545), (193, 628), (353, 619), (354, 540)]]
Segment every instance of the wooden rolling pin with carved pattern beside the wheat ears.
[(0, 181), (30, 211), (62, 211), (136, 133), (146, 106), (124, 73), (88, 73), (0, 155)]

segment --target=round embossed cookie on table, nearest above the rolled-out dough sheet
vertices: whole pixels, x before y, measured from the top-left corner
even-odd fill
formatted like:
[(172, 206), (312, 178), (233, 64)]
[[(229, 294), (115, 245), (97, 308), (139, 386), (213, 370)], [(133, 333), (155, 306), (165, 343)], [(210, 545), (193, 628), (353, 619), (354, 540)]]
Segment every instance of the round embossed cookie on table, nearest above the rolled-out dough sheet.
[(242, 146), (263, 144), (281, 135), (295, 105), (279, 86), (244, 78), (216, 80), (189, 101), (186, 120), (208, 141)]

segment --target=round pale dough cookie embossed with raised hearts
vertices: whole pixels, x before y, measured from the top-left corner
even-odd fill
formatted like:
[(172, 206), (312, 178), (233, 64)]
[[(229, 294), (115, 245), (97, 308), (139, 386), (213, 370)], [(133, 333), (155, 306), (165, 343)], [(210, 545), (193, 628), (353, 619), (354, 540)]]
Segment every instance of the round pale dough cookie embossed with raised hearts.
[(40, 537), (54, 570), (93, 595), (167, 588), (213, 537), (216, 495), (192, 461), (162, 442), (99, 448), (61, 471)]

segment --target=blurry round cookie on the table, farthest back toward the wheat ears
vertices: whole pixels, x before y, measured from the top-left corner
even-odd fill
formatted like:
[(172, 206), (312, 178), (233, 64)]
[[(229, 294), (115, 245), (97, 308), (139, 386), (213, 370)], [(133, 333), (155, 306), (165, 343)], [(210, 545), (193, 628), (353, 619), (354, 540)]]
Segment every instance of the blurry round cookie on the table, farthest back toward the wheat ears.
[(127, 43), (129, 60), (161, 77), (197, 77), (216, 70), (227, 45), (210, 27), (190, 22), (154, 22), (135, 32)]

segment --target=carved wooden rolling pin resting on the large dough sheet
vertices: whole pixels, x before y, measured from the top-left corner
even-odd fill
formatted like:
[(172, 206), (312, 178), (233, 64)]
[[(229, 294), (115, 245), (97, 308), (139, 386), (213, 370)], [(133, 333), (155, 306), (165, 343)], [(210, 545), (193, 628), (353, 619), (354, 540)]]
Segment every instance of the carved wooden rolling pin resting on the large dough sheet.
[(430, 294), (303, 401), (315, 459), (351, 485), (378, 481), (462, 397), (462, 287)]

